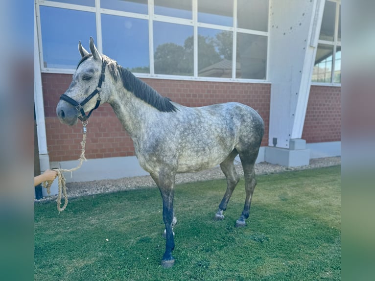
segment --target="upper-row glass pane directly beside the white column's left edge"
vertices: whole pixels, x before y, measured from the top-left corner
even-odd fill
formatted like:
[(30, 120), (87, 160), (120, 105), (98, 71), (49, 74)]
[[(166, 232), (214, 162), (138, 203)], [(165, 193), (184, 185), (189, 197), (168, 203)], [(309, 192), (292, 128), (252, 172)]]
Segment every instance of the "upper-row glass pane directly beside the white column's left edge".
[(268, 0), (238, 0), (237, 27), (268, 31)]

